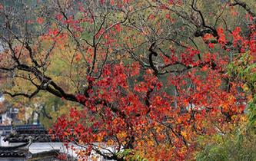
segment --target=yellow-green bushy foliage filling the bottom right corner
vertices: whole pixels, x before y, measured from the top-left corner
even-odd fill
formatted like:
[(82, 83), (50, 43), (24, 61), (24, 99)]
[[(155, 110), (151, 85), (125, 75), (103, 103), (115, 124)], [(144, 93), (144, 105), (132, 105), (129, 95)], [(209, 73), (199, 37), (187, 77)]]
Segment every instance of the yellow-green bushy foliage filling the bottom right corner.
[(237, 130), (224, 136), (218, 134), (214, 141), (198, 153), (198, 161), (256, 160), (256, 135), (253, 130), (244, 133)]

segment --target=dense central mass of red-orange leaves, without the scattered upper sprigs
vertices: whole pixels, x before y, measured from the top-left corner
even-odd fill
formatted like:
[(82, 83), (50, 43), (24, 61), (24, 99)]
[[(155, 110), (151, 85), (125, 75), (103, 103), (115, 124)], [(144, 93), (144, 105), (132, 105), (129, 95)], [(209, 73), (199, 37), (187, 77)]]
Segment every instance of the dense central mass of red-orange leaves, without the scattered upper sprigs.
[[(194, 57), (197, 54), (196, 50), (188, 50), (190, 56)], [(202, 59), (202, 61), (216, 61), (217, 56), (204, 54)], [(192, 61), (188, 63), (194, 64), (193, 59), (190, 60)], [(133, 65), (138, 66), (138, 64)], [(168, 126), (171, 126), (174, 132), (170, 132), (169, 135), (173, 138), (172, 143), (178, 152), (185, 147), (182, 138), (193, 143), (197, 133), (214, 133), (212, 128), (214, 125), (211, 123), (224, 123), (224, 115), (221, 115), (221, 112), (232, 116), (241, 113), (244, 108), (237, 106), (237, 100), (232, 93), (221, 89), (222, 75), (218, 71), (211, 70), (211, 67), (194, 68), (188, 73), (168, 77), (171, 79), (171, 84), (177, 87), (177, 96), (163, 91), (165, 82), (158, 80), (158, 77), (150, 71), (141, 71), (144, 74), (143, 77), (132, 82), (132, 85), (129, 84), (128, 79), (139, 76), (131, 74), (132, 72), (134, 71), (130, 66), (113, 64), (106, 66), (100, 80), (88, 77), (87, 81), (94, 84), (95, 93), (91, 92), (89, 98), (78, 94), (77, 99), (85, 102), (89, 113), (98, 113), (98, 117), (88, 114), (83, 117), (81, 114), (84, 113), (83, 111), (72, 108), (68, 118), (58, 119), (55, 126), (58, 136), (63, 135), (61, 137), (63, 140), (65, 137), (69, 140), (70, 137), (82, 140), (85, 144), (106, 142), (114, 146), (116, 138), (121, 145), (125, 145), (128, 143), (129, 136), (132, 135), (136, 138), (135, 149), (143, 145), (142, 147), (148, 150), (156, 146), (155, 142), (150, 140), (152, 131), (154, 132), (154, 129), (158, 131), (155, 133), (155, 138), (160, 145), (165, 145), (165, 141), (168, 140), (165, 132), (170, 131)], [(204, 74), (200, 75), (199, 72)], [(105, 101), (99, 103), (98, 99), (105, 100), (107, 105)], [(85, 120), (88, 123), (85, 123)], [(165, 123), (168, 126), (162, 126), (159, 123)], [(194, 128), (197, 130), (196, 133)], [(169, 153), (175, 153), (170, 150), (168, 150)], [(188, 150), (192, 150), (190, 146)], [(185, 150), (175, 155), (181, 158), (185, 157), (184, 153), (187, 152)], [(88, 151), (89, 153), (91, 150)]]

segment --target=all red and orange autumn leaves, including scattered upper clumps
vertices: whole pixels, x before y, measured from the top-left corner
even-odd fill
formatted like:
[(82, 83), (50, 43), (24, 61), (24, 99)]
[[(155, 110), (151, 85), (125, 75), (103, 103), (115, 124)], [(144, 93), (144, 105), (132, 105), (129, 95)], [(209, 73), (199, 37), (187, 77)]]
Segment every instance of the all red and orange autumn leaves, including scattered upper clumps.
[[(111, 5), (115, 5), (115, 1), (111, 1)], [(166, 9), (168, 5), (160, 8)], [(148, 18), (155, 21), (156, 16), (151, 14)], [(170, 16), (165, 13), (163, 18), (169, 19)], [(62, 21), (63, 18), (59, 15), (57, 19)], [(91, 21), (90, 18), (88, 20)], [(68, 23), (74, 31), (79, 32), (80, 22), (69, 18), (63, 23)], [(102, 27), (95, 38), (104, 34), (100, 45), (110, 48), (109, 51), (121, 48), (114, 35), (122, 35), (126, 29), (118, 24), (105, 33), (107, 26)], [(241, 100), (237, 99), (240, 95), (236, 88), (240, 85), (230, 85), (231, 82), (228, 82), (230, 87), (224, 86), (228, 77), (224, 75), (224, 70), (230, 59), (223, 56), (225, 53), (211, 51), (217, 51), (218, 44), (221, 44), (222, 49), (226, 48), (227, 40), (231, 40), (232, 36), (234, 47), (239, 44), (244, 51), (254, 52), (256, 34), (252, 32), (251, 38), (244, 40), (241, 28), (235, 28), (231, 35), (226, 35), (222, 28), (217, 31), (217, 38), (210, 34), (204, 35), (203, 41), (209, 48), (214, 48), (210, 52), (190, 47), (180, 49), (171, 45), (169, 51), (165, 50), (167, 54), (158, 51), (154, 64), (160, 62), (159, 72), (174, 71), (163, 76), (155, 76), (147, 65), (141, 67), (144, 60), (142, 63), (134, 60), (131, 62), (129, 56), (125, 57), (125, 52), (118, 53), (118, 56), (111, 55), (110, 58), (117, 60), (106, 62), (101, 77), (95, 79), (94, 74), (91, 74), (82, 78), (86, 82), (85, 89), (90, 89), (85, 94), (78, 94), (76, 99), (86, 110), (71, 109), (67, 118), (58, 120), (56, 132), (63, 135), (62, 139), (71, 137), (84, 144), (104, 142), (110, 146), (120, 144), (123, 147), (134, 137), (133, 146), (136, 150), (148, 153), (149, 149), (154, 152), (161, 147), (170, 154), (170, 159), (185, 159), (186, 153), (194, 150), (191, 145), (198, 134), (216, 133), (214, 126), (231, 123), (230, 118), (239, 116), (244, 110)], [(57, 29), (49, 31), (49, 35), (57, 33)], [(144, 35), (141, 33), (141, 36)], [(136, 40), (134, 35), (131, 38)], [(92, 47), (85, 50), (89, 57), (94, 54)], [(105, 51), (99, 48), (98, 54), (100, 52)], [(80, 57), (75, 59), (79, 61)], [(166, 144), (168, 142), (171, 142), (170, 149)], [(87, 155), (90, 153), (91, 149)]]

